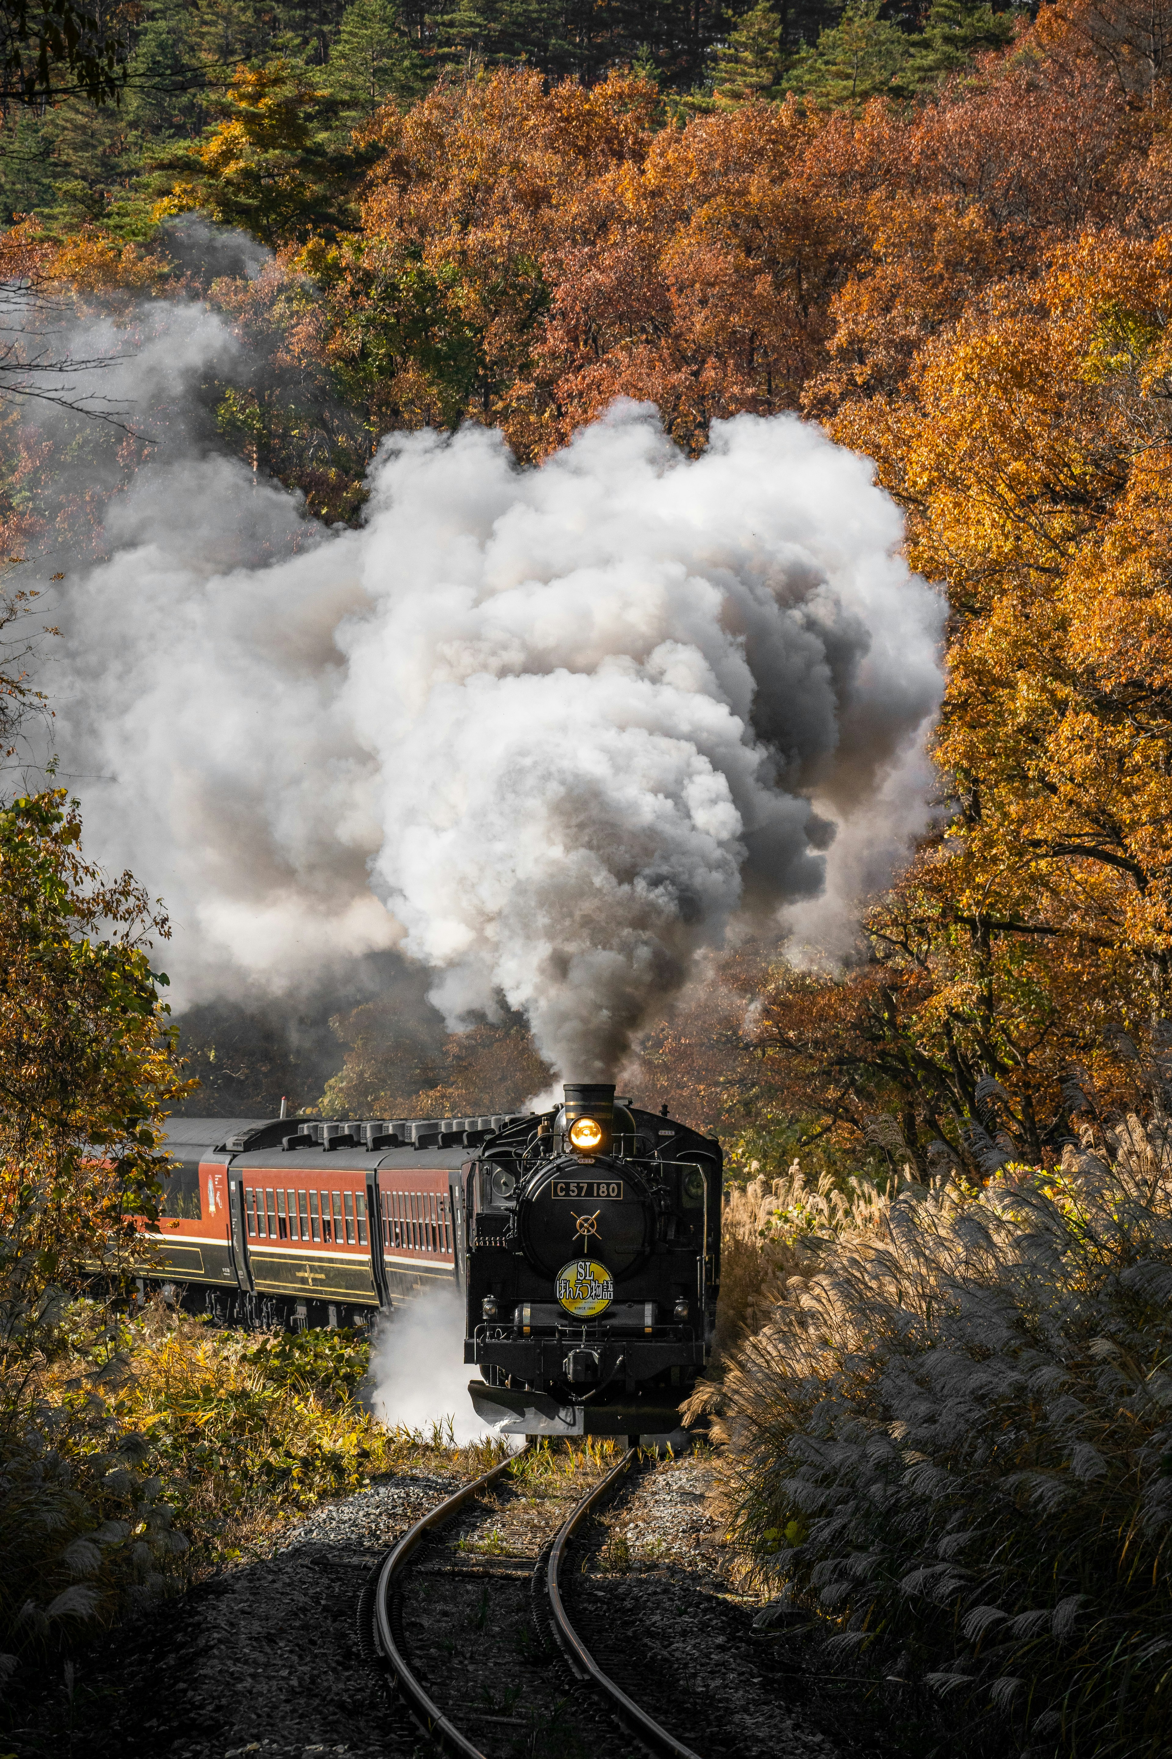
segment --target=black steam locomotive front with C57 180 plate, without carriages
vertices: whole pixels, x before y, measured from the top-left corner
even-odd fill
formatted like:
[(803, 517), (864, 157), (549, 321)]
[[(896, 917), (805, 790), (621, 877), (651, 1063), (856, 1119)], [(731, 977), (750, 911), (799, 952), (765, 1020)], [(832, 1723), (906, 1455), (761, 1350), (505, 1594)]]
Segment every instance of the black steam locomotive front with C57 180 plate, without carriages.
[(469, 1393), (503, 1432), (668, 1434), (712, 1351), (720, 1147), (610, 1084), (564, 1092), (467, 1170)]

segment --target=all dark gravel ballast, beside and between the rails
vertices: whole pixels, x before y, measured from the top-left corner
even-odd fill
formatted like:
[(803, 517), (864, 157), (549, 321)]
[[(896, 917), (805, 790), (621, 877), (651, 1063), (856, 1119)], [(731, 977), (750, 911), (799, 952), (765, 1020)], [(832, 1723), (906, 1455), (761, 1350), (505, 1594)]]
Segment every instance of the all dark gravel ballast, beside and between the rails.
[[(457, 1485), (455, 1476), (402, 1474), (320, 1506), (267, 1557), (158, 1602), (81, 1655), (72, 1697), (63, 1687), (47, 1694), (35, 1726), (12, 1731), (5, 1750), (18, 1759), (425, 1759), (430, 1745), (362, 1660), (355, 1611), (385, 1548)], [(404, 1613), (429, 1652), (423, 1673), (459, 1655), (436, 1685), (501, 1759), (633, 1752), (603, 1703), (534, 1648), (529, 1625), (527, 1571), (580, 1493), (573, 1478), (548, 1490), (501, 1486), (411, 1573)], [(703, 1759), (835, 1759), (836, 1747), (794, 1704), (785, 1645), (754, 1638), (757, 1606), (733, 1594), (720, 1539), (708, 1460), (640, 1472), (592, 1525), (589, 1573), (573, 1576), (583, 1636)]]

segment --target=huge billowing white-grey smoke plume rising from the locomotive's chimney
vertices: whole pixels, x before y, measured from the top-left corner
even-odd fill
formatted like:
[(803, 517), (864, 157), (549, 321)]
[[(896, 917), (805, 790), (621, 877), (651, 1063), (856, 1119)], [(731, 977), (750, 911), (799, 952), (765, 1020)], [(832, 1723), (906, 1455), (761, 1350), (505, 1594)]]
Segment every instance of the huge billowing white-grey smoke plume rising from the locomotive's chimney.
[[(111, 390), (181, 408), (232, 343), (155, 322)], [(504, 996), (604, 1078), (701, 950), (833, 925), (921, 827), (942, 603), (819, 429), (738, 417), (691, 461), (627, 403), (538, 470), (395, 436), (371, 491), (316, 528), (172, 420), (49, 605), (61, 770), (165, 897), (179, 1003), (397, 946), (450, 1024)]]

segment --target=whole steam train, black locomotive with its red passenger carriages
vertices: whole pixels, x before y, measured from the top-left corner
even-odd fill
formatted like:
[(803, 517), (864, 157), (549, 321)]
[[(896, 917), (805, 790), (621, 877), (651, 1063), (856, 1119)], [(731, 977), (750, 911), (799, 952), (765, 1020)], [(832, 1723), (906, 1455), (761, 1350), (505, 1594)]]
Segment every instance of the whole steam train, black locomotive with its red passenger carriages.
[(664, 1434), (708, 1360), (722, 1156), (571, 1084), (552, 1112), (172, 1119), (142, 1282), (246, 1326), (364, 1325), (464, 1293), (476, 1411), (503, 1432)]

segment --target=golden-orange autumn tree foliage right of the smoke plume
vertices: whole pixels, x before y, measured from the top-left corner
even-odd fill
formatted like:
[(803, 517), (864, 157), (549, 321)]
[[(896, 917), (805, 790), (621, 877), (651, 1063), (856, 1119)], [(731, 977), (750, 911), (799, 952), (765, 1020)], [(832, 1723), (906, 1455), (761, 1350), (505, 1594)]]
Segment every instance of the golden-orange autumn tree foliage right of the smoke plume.
[(979, 1166), (988, 1082), (1012, 1150), (1053, 1154), (1072, 1071), (1119, 1091), (1119, 1033), (1172, 1011), (1170, 267), (1163, 237), (1086, 234), (836, 420), (949, 588), (952, 816), (764, 1041), (828, 1120), (898, 1113), (921, 1166), (928, 1136)]

